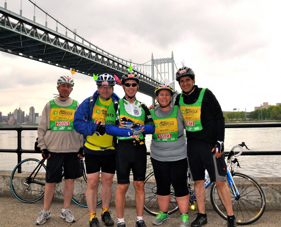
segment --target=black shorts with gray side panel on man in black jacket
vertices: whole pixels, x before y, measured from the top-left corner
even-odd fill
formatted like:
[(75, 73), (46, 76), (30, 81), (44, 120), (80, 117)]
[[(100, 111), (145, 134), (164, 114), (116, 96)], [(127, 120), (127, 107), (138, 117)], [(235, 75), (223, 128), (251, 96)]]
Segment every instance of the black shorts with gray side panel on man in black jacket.
[(216, 158), (213, 148), (214, 144), (200, 139), (187, 141), (187, 160), (193, 181), (204, 180), (205, 170), (208, 171), (211, 182), (226, 181), (227, 166), (224, 155)]

